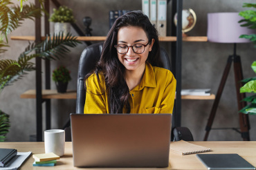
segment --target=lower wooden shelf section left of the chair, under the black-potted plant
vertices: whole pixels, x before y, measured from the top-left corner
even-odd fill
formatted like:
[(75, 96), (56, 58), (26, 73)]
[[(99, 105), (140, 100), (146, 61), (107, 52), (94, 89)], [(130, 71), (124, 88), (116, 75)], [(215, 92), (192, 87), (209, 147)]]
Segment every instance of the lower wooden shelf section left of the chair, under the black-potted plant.
[[(22, 99), (35, 99), (35, 90), (28, 90), (20, 95)], [(43, 90), (42, 99), (76, 99), (76, 91), (57, 93), (57, 90)]]

